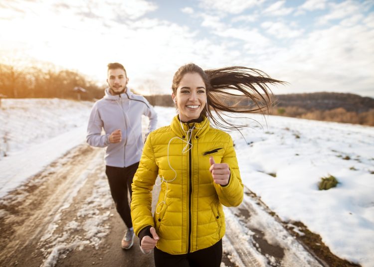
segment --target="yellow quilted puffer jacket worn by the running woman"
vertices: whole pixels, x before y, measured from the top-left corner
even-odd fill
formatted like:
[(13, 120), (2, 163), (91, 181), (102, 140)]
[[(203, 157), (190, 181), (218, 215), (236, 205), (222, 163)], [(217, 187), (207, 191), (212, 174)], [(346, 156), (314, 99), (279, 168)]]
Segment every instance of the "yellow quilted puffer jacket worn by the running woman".
[[(243, 200), (231, 136), (210, 128), (206, 118), (201, 123), (182, 125), (176, 116), (170, 126), (148, 135), (132, 184), (131, 216), (136, 235), (144, 227), (154, 226), (160, 237), (157, 248), (169, 254), (186, 254), (214, 245), (225, 232), (222, 205), (238, 206)], [(187, 131), (192, 126), (190, 145)], [(186, 145), (185, 150), (190, 149), (184, 152)], [(213, 182), (210, 156), (215, 163), (229, 165), (228, 185)], [(151, 191), (157, 175), (165, 181), (161, 179), (158, 206), (152, 216)]]

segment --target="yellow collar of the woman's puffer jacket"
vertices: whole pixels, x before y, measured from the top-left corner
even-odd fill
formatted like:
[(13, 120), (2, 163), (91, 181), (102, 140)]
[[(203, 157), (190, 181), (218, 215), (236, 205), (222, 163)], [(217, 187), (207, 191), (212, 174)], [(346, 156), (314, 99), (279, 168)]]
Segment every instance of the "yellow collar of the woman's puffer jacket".
[[(179, 120), (179, 115), (173, 118), (173, 121), (170, 125), (172, 131), (176, 133), (179, 137), (183, 139), (187, 138), (187, 131), (194, 127), (192, 133), (194, 139), (202, 137), (205, 133), (209, 131), (209, 120), (204, 116), (202, 122), (200, 123), (182, 123)], [(183, 128), (182, 128), (183, 127)]]

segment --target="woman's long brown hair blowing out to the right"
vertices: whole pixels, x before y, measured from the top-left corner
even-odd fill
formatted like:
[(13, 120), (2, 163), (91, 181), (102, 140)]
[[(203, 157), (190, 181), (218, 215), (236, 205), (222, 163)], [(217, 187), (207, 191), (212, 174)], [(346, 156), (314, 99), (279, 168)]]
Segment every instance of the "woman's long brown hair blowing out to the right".
[[(268, 84), (284, 84), (271, 78), (265, 72), (246, 67), (225, 67), (202, 70), (193, 63), (178, 69), (173, 78), (174, 94), (186, 73), (198, 73), (205, 83), (207, 102), (201, 115), (206, 116), (218, 128), (237, 130), (248, 125), (235, 125), (227, 122), (222, 116), (228, 113), (261, 113), (264, 114), (272, 105), (273, 95)], [(218, 119), (212, 115), (215, 112)]]

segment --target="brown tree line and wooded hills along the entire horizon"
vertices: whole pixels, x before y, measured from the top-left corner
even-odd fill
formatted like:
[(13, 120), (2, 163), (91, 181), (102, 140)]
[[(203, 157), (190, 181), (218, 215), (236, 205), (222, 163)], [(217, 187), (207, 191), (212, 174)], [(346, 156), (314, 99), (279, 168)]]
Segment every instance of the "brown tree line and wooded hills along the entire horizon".
[[(75, 87), (84, 88), (81, 100), (95, 100), (104, 96), (103, 86), (72, 70), (43, 70), (28, 67), (22, 70), (0, 64), (0, 98), (65, 98), (77, 99)], [(136, 90), (134, 93), (137, 94)], [(171, 95), (145, 96), (153, 106), (173, 107)], [(253, 105), (240, 96), (222, 100), (228, 105)], [(332, 121), (374, 126), (374, 99), (345, 93), (302, 93), (276, 95), (269, 114), (319, 121)], [(255, 107), (254, 107), (255, 108)]]

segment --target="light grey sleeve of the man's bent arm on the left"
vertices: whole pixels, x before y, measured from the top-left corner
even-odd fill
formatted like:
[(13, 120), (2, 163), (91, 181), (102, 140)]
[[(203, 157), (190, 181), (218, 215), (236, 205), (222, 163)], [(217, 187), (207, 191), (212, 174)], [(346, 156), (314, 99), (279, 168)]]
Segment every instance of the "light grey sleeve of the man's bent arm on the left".
[(101, 135), (103, 121), (97, 108), (97, 103), (92, 107), (90, 119), (88, 120), (86, 141), (89, 145), (97, 147), (105, 147), (110, 144), (110, 133)]

